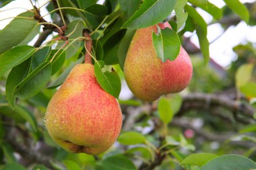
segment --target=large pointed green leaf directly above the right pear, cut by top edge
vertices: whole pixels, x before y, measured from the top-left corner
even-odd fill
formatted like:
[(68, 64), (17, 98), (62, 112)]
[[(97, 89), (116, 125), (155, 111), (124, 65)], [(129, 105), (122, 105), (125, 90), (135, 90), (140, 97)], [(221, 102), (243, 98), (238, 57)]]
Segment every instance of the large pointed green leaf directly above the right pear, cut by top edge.
[(144, 0), (123, 28), (146, 28), (162, 22), (175, 7), (177, 0)]

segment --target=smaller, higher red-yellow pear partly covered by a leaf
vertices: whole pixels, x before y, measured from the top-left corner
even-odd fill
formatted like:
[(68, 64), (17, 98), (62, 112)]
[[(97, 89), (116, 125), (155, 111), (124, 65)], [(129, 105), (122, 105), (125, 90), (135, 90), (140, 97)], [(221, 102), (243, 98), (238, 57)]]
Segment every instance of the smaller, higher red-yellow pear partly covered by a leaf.
[[(158, 26), (160, 29), (170, 28), (168, 22)], [(153, 32), (157, 32), (157, 26), (136, 30), (125, 58), (127, 85), (143, 101), (154, 101), (161, 95), (182, 91), (193, 72), (189, 55), (182, 46), (175, 60), (162, 62), (154, 48)]]

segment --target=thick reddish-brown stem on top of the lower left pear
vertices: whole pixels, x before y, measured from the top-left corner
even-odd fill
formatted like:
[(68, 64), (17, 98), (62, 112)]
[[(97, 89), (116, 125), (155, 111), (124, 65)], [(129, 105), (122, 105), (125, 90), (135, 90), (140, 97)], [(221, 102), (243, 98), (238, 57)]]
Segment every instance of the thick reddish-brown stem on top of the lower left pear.
[(83, 31), (85, 38), (85, 46), (86, 46), (86, 54), (84, 55), (84, 63), (92, 64), (92, 56), (90, 53), (92, 52), (92, 38), (89, 34), (89, 30), (84, 29)]

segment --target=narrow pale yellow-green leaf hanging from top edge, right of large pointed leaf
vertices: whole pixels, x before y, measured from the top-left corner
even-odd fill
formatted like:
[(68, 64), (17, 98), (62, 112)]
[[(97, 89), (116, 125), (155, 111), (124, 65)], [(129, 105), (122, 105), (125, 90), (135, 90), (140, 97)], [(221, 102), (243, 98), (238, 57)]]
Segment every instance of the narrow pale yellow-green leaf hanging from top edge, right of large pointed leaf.
[(188, 13), (184, 13), (184, 7), (187, 4), (187, 0), (179, 0), (177, 1), (174, 11), (176, 13), (177, 18), (177, 32), (183, 30), (182, 26), (187, 21)]

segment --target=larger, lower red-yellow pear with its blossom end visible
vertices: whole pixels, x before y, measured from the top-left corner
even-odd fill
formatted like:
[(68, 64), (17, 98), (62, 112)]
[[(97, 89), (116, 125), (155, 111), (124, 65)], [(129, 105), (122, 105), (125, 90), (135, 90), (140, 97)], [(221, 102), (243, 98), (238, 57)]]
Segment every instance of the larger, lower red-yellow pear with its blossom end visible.
[(98, 84), (92, 64), (76, 65), (49, 102), (45, 126), (65, 150), (98, 155), (119, 136), (121, 108)]

